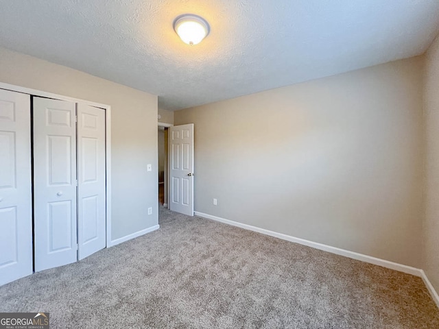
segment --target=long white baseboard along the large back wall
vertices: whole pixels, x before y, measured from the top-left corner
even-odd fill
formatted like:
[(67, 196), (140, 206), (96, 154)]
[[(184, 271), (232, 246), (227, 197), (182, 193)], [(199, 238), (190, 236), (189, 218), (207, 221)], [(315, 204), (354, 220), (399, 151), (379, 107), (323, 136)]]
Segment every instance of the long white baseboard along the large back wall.
[(212, 215), (208, 215), (208, 214), (204, 214), (202, 212), (198, 212), (195, 211), (195, 215), (196, 216), (200, 216), (200, 217), (204, 217), (207, 219), (212, 219), (213, 221), (220, 221), (222, 223), (226, 223), (229, 225), (233, 225), (233, 226), (237, 226), (238, 228), (244, 228), (246, 230), (250, 230), (250, 231), (254, 231), (254, 232), (259, 232), (261, 234), (265, 234), (265, 235), (270, 235), (270, 236), (274, 236), (278, 239), (282, 239), (282, 240), (286, 240), (286, 241), (290, 241), (290, 242), (294, 242), (294, 243), (299, 243), (300, 245), (307, 245), (308, 247), (313, 247), (316, 249), (320, 249), (323, 250), (324, 252), (331, 252), (332, 254), (337, 254), (340, 256), (345, 256), (348, 258), (353, 258), (356, 260), (361, 260), (363, 262), (366, 263), (370, 263), (370, 264), (374, 264), (374, 265), (379, 265), (382, 267), (387, 267), (388, 269), (394, 269), (396, 271), (400, 271), (403, 273), (408, 273), (408, 274), (412, 274), (412, 276), (418, 276), (418, 277), (422, 277), (422, 270), (421, 269), (416, 269), (416, 267), (410, 267), (407, 265), (402, 265), (399, 263), (394, 263), (394, 262), (390, 262), (389, 260), (383, 260), (381, 258), (375, 258), (372, 256), (368, 256), (368, 255), (364, 255), (364, 254), (359, 254), (357, 252), (350, 252), (349, 250), (346, 249), (340, 249), (337, 247), (331, 247), (330, 245), (324, 245), (322, 243), (317, 243), (317, 242), (313, 242), (313, 241), (308, 241), (305, 239), (300, 239), (300, 238), (296, 238), (294, 236), (290, 236), (287, 234), (282, 234), (282, 233), (278, 233), (278, 232), (273, 232), (270, 230), (265, 230), (264, 228), (257, 228), (256, 226), (250, 226), (247, 224), (243, 224), (243, 223), (238, 223), (237, 221), (230, 221), (228, 219), (224, 219), (221, 217), (216, 217), (216, 216), (212, 216)]

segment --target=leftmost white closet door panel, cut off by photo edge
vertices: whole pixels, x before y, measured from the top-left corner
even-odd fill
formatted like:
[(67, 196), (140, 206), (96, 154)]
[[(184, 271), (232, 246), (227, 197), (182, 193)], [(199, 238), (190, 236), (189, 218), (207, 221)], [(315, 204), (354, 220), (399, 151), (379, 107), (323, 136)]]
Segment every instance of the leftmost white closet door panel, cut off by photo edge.
[(32, 271), (30, 96), (0, 89), (0, 285)]

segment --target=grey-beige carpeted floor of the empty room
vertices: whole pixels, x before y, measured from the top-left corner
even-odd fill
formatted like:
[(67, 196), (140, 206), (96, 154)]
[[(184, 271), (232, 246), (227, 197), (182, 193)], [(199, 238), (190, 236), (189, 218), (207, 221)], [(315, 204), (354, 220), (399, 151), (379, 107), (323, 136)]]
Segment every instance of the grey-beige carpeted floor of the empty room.
[(161, 229), (0, 287), (51, 328), (439, 328), (420, 278), (161, 208)]

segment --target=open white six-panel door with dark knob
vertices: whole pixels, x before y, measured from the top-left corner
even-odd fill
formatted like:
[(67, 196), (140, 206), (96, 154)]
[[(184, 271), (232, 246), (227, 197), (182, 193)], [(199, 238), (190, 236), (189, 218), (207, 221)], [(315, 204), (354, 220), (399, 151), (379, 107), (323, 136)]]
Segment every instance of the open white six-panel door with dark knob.
[(169, 128), (169, 208), (193, 216), (193, 123)]

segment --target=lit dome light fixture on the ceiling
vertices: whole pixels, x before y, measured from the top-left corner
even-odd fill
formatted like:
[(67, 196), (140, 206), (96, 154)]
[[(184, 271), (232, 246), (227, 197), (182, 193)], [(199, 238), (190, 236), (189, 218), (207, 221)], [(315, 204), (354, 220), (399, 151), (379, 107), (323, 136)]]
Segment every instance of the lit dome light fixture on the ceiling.
[(181, 40), (188, 45), (197, 45), (209, 32), (211, 27), (205, 19), (193, 14), (183, 14), (178, 16), (174, 21), (174, 31)]

